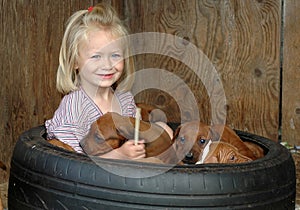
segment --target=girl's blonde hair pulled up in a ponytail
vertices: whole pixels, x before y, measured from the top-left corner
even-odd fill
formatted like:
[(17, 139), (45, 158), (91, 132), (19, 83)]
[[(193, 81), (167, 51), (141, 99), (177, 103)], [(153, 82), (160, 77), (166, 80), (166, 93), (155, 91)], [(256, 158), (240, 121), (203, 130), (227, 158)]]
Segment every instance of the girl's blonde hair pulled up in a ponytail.
[[(75, 12), (67, 21), (65, 34), (59, 54), (59, 67), (57, 70), (56, 88), (59, 92), (67, 94), (77, 90), (80, 85), (78, 70), (75, 69), (78, 58), (78, 48), (80, 42), (87, 37), (91, 28), (111, 30), (116, 38), (126, 37), (128, 31), (122, 24), (118, 14), (109, 4), (98, 4), (89, 10)], [(121, 82), (122, 87), (118, 90), (127, 91), (133, 83), (134, 62), (130, 57), (129, 47), (125, 49), (124, 73), (114, 84), (116, 88)]]

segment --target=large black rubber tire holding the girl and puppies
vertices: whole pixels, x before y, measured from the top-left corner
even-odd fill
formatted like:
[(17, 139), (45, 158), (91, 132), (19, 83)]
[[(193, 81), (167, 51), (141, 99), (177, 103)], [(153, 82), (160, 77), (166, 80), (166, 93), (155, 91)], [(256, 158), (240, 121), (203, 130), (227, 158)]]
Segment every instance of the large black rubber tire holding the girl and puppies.
[[(110, 173), (83, 154), (48, 144), (43, 126), (16, 143), (9, 210), (26, 209), (295, 209), (296, 175), (290, 152), (266, 138), (237, 131), (262, 146), (264, 158), (243, 164), (176, 166), (152, 177)], [(139, 174), (166, 165), (101, 160)]]

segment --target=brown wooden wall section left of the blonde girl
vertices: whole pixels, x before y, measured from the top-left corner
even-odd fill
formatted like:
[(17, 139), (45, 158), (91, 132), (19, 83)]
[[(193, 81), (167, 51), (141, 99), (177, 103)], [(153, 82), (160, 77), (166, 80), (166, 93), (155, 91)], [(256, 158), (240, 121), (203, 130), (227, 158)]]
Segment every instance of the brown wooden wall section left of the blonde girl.
[(90, 4), (90, 0), (0, 4), (0, 160), (8, 167), (19, 135), (43, 124), (56, 110), (61, 100), (55, 85), (64, 25), (70, 14)]

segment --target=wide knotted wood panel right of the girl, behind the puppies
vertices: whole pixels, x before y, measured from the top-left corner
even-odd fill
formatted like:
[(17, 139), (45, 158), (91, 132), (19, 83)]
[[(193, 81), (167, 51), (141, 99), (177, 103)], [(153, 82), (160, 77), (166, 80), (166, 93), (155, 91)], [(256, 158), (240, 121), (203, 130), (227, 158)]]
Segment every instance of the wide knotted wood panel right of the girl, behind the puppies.
[[(228, 125), (277, 140), (280, 0), (127, 0), (125, 5), (133, 33), (173, 34), (208, 56), (222, 79)], [(197, 98), (201, 120), (210, 121), (213, 110), (205, 87), (190, 69), (159, 55), (140, 56), (137, 61), (138, 70), (167, 69), (183, 78)], [(138, 100), (153, 102), (156, 96), (147, 97), (141, 94)]]

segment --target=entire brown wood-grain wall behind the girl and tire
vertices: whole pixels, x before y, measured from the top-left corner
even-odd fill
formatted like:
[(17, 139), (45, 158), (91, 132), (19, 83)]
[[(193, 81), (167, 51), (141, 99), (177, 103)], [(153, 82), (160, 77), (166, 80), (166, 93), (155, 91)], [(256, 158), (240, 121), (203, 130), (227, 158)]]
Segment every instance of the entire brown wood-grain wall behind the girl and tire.
[[(65, 21), (96, 2), (2, 0), (0, 161), (9, 165), (18, 136), (52, 117), (61, 99), (55, 77)], [(282, 140), (300, 144), (297, 0), (107, 2), (117, 8), (132, 33), (176, 35), (208, 56), (224, 87), (228, 125), (275, 141), (282, 133)], [(137, 70), (166, 69), (180, 77), (194, 93), (201, 119), (210, 120), (209, 98), (193, 69), (163, 55), (138, 55), (136, 60)], [(182, 88), (173, 89), (185, 101)], [(157, 104), (170, 121), (176, 121), (180, 107), (172, 96), (153, 89), (136, 99)], [(193, 112), (188, 105), (184, 109)], [(0, 182), (7, 178), (0, 172)]]

